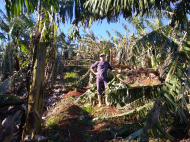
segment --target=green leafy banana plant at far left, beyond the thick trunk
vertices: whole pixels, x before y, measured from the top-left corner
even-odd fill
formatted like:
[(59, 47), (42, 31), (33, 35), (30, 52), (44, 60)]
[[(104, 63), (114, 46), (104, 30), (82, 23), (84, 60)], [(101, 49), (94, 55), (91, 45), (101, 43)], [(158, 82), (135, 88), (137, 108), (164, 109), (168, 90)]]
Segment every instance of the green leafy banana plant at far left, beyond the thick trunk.
[[(8, 17), (2, 12), (0, 16), (1, 22), (0, 22), (0, 28), (5, 33), (5, 36), (8, 36), (9, 38), (9, 46), (8, 46), (8, 52), (9, 52), (9, 60), (12, 63), (10, 66), (13, 68), (13, 59), (14, 62), (19, 62), (19, 58), (23, 58), (28, 54), (29, 50), (29, 34), (31, 33), (31, 29), (33, 26), (33, 21), (30, 16), (22, 15), (17, 18), (12, 18), (8, 21)], [(24, 38), (24, 40), (22, 40)], [(10, 42), (12, 41), (12, 42)], [(20, 56), (20, 57), (19, 57)], [(24, 61), (23, 61), (24, 62)], [(26, 62), (26, 59), (25, 59)], [(18, 64), (18, 63), (17, 63)], [(13, 73), (13, 69), (11, 69), (11, 74)], [(18, 67), (16, 67), (16, 70), (19, 70), (19, 64)], [(5, 78), (6, 79), (6, 78)]]

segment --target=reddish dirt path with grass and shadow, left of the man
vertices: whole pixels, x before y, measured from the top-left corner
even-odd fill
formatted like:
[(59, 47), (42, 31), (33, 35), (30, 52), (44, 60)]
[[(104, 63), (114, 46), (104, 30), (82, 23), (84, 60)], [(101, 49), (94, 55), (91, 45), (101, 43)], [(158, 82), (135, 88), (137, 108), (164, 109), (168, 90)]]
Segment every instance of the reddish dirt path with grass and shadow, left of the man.
[[(93, 116), (75, 103), (86, 89), (77, 88), (75, 91), (64, 91), (58, 77), (51, 94), (46, 94), (44, 100), (43, 119), (46, 124), (43, 135), (52, 141), (85, 142), (85, 141), (114, 141), (115, 134), (112, 128), (118, 127), (115, 120), (92, 122)], [(97, 106), (96, 106), (97, 107)], [(115, 108), (97, 107), (101, 113), (117, 113)], [(58, 120), (51, 123), (55, 116)]]

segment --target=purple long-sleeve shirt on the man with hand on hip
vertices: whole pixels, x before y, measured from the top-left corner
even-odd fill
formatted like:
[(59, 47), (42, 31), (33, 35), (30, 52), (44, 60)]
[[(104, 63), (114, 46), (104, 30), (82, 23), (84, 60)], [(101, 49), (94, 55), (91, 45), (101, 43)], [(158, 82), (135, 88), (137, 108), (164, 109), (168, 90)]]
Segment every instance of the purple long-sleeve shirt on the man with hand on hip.
[(108, 61), (105, 61), (105, 62), (96, 61), (90, 67), (90, 69), (94, 69), (95, 67), (97, 68), (97, 72), (99, 73), (99, 75), (97, 75), (97, 77), (103, 77), (103, 78), (107, 78), (107, 71), (108, 71), (108, 69), (110, 69), (110, 70), (113, 69)]

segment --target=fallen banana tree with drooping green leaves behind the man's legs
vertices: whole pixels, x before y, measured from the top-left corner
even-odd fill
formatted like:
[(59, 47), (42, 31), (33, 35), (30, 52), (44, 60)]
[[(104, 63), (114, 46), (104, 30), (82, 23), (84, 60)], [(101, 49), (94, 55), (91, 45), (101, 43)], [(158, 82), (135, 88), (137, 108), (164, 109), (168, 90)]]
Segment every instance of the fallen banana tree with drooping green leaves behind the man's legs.
[[(116, 80), (119, 80), (119, 82)], [(103, 94), (103, 100), (106, 103), (109, 103), (109, 105), (119, 105), (122, 107), (137, 99), (143, 98), (141, 102), (144, 102), (145, 104), (148, 100), (154, 100), (158, 96), (162, 86), (163, 84), (131, 87), (119, 76), (115, 76), (112, 81), (108, 83), (106, 91)], [(96, 84), (88, 89), (77, 100), (77, 102), (81, 104), (91, 103), (94, 105), (96, 104), (96, 101)]]

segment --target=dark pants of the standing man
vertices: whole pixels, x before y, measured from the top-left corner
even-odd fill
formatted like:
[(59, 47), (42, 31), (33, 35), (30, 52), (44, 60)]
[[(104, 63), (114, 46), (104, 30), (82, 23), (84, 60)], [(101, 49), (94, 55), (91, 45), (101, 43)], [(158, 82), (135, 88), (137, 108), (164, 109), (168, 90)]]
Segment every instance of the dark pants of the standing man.
[(97, 76), (96, 78), (96, 84), (97, 84), (97, 93), (98, 95), (102, 94), (102, 87), (105, 90), (106, 86), (108, 83), (108, 79), (107, 78), (103, 78), (103, 77), (99, 77)]

